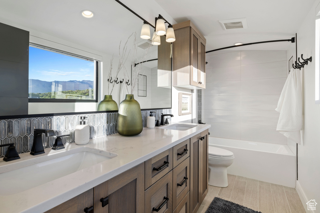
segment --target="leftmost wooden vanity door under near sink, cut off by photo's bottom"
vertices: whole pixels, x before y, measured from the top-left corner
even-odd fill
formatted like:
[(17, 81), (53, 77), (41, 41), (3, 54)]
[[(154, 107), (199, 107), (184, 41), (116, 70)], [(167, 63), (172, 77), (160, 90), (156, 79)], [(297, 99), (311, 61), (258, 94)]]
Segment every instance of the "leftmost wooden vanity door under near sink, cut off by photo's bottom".
[(45, 213), (83, 213), (85, 208), (90, 207), (93, 207), (93, 188), (61, 203), (59, 206), (56, 206)]

